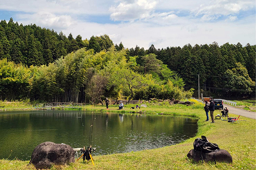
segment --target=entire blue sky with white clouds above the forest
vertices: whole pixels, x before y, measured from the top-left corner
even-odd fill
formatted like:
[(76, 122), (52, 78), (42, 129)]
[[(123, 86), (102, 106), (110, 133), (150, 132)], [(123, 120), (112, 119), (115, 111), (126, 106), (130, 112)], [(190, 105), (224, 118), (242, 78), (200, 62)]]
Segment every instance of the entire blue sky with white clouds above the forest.
[(256, 42), (255, 0), (2, 0), (0, 19), (125, 47)]

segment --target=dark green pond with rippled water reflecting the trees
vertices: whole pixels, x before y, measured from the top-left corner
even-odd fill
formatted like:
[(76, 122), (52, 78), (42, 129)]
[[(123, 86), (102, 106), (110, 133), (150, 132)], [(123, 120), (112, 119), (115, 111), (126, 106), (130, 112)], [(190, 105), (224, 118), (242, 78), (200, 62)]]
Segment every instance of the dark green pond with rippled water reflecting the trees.
[(197, 132), (197, 119), (183, 116), (69, 110), (0, 112), (0, 159), (30, 160), (34, 148), (47, 141), (72, 148), (88, 146), (91, 120), (91, 143), (97, 147), (93, 155), (169, 146)]

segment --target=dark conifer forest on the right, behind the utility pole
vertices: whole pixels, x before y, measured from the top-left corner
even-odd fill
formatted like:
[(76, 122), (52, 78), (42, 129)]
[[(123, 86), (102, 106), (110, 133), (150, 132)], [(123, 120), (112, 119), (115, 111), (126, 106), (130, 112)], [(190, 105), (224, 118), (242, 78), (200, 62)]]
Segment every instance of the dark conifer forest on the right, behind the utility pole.
[[(138, 46), (129, 49), (129, 56), (155, 54), (169, 69), (176, 71), (186, 84), (185, 89), (198, 88), (200, 93), (214, 97), (253, 97), (255, 96), (256, 61), (255, 45), (225, 43), (190, 44), (181, 47), (156, 49), (154, 45), (148, 50)], [(194, 91), (195, 96), (198, 90)]]

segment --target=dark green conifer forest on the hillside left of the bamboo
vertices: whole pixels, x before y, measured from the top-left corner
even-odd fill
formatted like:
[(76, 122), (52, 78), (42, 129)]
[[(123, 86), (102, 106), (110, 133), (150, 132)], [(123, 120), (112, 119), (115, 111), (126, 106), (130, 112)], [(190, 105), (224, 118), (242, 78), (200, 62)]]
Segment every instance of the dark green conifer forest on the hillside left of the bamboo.
[(80, 35), (74, 39), (71, 33), (66, 37), (63, 32), (57, 34), (54, 30), (41, 28), (36, 24), (19, 25), (12, 18), (8, 24), (5, 20), (0, 22), (0, 59), (7, 58), (16, 64), (48, 65), (83, 47), (100, 52), (112, 45), (108, 35), (82, 40)]

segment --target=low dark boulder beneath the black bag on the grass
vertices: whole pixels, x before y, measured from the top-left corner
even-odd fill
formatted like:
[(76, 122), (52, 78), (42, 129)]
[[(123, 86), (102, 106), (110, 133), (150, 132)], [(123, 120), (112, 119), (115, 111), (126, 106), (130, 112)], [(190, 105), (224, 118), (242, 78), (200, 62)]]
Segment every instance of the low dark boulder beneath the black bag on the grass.
[[(202, 156), (201, 156), (202, 153)], [(216, 152), (210, 152), (210, 153), (204, 153), (201, 151), (194, 151), (194, 149), (191, 149), (189, 153), (187, 154), (187, 157), (190, 159), (194, 159), (194, 161), (198, 162), (200, 160), (208, 161), (218, 161), (218, 162), (232, 162), (232, 156), (228, 153), (228, 151), (220, 149)]]

